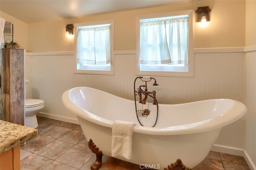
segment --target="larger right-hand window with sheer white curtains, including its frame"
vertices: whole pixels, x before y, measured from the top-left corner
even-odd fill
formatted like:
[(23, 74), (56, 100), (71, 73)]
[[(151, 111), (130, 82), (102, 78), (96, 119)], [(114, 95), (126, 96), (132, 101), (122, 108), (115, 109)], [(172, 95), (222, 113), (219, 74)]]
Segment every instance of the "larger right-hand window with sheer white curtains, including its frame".
[(138, 17), (138, 74), (193, 76), (192, 11)]

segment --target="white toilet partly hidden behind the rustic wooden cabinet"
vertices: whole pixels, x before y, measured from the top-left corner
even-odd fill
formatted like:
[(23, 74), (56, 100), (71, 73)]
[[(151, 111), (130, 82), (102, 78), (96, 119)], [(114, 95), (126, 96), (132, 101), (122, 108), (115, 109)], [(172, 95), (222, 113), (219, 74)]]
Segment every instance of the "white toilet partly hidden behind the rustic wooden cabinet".
[[(28, 91), (29, 80), (25, 80), (25, 97)], [(26, 98), (25, 98), (26, 99)], [(36, 113), (39, 113), (44, 108), (44, 101), (40, 99), (25, 100), (25, 126), (36, 128), (38, 127)]]

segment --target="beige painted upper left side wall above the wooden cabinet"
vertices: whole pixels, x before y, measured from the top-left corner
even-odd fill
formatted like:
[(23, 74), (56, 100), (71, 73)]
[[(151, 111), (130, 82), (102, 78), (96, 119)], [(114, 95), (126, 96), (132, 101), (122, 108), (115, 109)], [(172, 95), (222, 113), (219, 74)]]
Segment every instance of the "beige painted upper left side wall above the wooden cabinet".
[(26, 23), (0, 11), (0, 17), (13, 22), (13, 36), (20, 48), (28, 48), (28, 26)]

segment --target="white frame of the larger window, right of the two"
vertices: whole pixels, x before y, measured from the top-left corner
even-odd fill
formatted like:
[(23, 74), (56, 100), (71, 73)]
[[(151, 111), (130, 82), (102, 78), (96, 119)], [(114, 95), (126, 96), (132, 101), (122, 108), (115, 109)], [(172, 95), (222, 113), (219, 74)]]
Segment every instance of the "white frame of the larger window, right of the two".
[[(186, 71), (172, 71), (180, 69), (181, 67), (177, 66), (168, 66), (171, 67), (168, 71), (159, 70), (140, 70), (140, 64), (138, 63), (140, 57), (140, 20), (152, 19), (152, 18), (163, 18), (163, 17), (171, 17), (171, 16), (181, 16), (181, 15), (188, 15), (188, 64), (184, 67), (187, 69)], [(194, 52), (193, 52), (193, 10), (186, 10), (186, 11), (178, 11), (178, 12), (167, 12), (161, 14), (150, 14), (150, 15), (143, 15), (136, 17), (136, 27), (137, 27), (137, 37), (136, 37), (136, 45), (137, 45), (137, 73), (136, 75), (152, 75), (152, 76), (166, 76), (166, 77), (194, 77)], [(162, 67), (162, 66), (160, 66)], [(164, 66), (165, 67), (165, 66)], [(149, 69), (156, 68), (154, 65), (146, 67)]]

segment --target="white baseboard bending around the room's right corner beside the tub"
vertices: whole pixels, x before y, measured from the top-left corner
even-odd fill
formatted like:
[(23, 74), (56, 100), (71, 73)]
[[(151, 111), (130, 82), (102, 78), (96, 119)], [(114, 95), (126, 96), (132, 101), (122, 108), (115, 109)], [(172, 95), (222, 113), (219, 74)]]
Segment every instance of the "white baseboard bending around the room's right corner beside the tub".
[(212, 146), (211, 150), (214, 151), (214, 152), (220, 152), (220, 153), (224, 153), (224, 154), (232, 154), (232, 155), (236, 155), (236, 156), (243, 156), (244, 159), (246, 160), (248, 166), (250, 167), (250, 169), (251, 170), (256, 170), (256, 166), (254, 165), (254, 162), (252, 161), (252, 159), (250, 158), (248, 153), (243, 149), (234, 148), (234, 147), (230, 147), (230, 146), (219, 145), (219, 144), (214, 144)]

